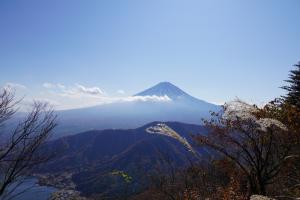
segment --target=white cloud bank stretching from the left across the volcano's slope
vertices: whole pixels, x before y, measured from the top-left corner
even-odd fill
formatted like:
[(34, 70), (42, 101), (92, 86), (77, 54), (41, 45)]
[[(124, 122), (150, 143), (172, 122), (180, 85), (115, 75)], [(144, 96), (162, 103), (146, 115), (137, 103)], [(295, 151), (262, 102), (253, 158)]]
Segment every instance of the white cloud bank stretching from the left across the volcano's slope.
[[(84, 108), (112, 103), (128, 102), (170, 102), (168, 96), (108, 96), (99, 87), (87, 87), (82, 84), (65, 86), (60, 83), (43, 83), (40, 91), (34, 91), (26, 95), (22, 101), (22, 109), (30, 108), (33, 101), (43, 101), (54, 106), (57, 110)], [(26, 89), (24, 85), (17, 83), (6, 83), (5, 87), (14, 89)], [(25, 91), (20, 91), (21, 94)], [(18, 94), (20, 95), (20, 92)], [(118, 90), (118, 94), (125, 94), (123, 90)]]

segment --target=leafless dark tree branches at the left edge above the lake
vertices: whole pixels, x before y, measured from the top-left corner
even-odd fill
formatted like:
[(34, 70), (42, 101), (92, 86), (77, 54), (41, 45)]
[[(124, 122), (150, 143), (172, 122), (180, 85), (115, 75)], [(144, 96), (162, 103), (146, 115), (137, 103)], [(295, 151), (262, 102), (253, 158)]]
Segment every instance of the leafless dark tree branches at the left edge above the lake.
[[(0, 92), (0, 125), (16, 113), (19, 101), (13, 92)], [(32, 110), (0, 144), (0, 197), (12, 183), (48, 160), (39, 150), (56, 127), (56, 115), (49, 105), (34, 102)], [(8, 133), (6, 133), (8, 134)]]

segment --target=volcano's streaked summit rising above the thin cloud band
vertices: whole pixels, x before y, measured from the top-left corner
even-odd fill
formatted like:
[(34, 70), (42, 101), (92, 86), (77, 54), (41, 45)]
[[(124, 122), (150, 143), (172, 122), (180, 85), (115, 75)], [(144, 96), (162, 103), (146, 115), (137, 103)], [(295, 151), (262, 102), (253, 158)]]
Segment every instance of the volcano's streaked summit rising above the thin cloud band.
[(135, 96), (165, 96), (167, 95), (171, 99), (176, 99), (179, 96), (186, 96), (183, 90), (173, 85), (170, 82), (160, 82), (157, 85), (136, 94)]

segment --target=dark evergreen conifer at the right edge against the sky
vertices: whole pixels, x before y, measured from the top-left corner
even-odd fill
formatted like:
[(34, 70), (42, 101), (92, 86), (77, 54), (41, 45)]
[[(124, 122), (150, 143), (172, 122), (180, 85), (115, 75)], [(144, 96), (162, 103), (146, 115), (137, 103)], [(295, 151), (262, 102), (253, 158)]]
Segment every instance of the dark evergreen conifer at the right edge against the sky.
[(289, 80), (286, 80), (289, 85), (282, 87), (288, 92), (283, 98), (287, 103), (300, 108), (300, 62), (294, 66), (296, 69), (290, 71)]

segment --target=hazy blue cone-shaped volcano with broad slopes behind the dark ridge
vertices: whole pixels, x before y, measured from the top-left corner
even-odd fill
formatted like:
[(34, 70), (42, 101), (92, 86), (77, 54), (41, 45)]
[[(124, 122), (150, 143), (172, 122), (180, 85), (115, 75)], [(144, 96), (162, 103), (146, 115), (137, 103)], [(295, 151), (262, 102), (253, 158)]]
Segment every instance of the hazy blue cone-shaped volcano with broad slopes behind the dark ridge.
[(153, 121), (201, 124), (220, 106), (199, 100), (169, 82), (161, 82), (132, 96), (131, 101), (58, 112), (54, 138), (87, 130), (137, 128)]

